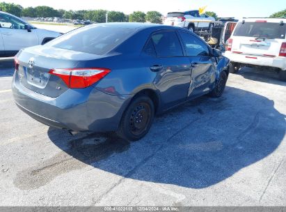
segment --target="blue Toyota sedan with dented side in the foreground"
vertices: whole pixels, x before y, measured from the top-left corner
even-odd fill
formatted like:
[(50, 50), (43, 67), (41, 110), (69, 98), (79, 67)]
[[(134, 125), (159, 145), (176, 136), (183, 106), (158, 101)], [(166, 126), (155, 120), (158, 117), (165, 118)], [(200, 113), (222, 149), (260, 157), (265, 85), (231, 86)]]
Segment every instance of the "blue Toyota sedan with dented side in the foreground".
[(205, 94), (220, 97), (229, 62), (186, 29), (93, 24), (20, 50), (13, 95), (48, 126), (138, 140), (156, 114)]

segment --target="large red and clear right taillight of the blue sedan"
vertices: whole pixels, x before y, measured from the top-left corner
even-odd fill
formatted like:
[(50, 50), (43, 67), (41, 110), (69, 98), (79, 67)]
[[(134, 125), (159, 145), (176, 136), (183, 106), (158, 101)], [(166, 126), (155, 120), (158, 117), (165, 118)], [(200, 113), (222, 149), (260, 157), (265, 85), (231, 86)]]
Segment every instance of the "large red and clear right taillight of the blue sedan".
[(107, 68), (56, 68), (50, 70), (49, 74), (63, 79), (70, 89), (84, 89), (110, 72)]

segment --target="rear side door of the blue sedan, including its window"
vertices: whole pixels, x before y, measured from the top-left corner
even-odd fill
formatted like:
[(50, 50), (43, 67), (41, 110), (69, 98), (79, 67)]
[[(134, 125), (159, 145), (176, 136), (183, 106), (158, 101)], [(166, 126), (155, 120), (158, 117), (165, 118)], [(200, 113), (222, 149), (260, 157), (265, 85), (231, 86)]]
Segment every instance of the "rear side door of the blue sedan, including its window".
[[(184, 102), (191, 82), (191, 65), (183, 54), (176, 31), (161, 30), (153, 33), (144, 52), (150, 54), (145, 63), (147, 71), (156, 73), (153, 84), (161, 93), (164, 105), (162, 109)], [(154, 70), (154, 66), (160, 68)]]

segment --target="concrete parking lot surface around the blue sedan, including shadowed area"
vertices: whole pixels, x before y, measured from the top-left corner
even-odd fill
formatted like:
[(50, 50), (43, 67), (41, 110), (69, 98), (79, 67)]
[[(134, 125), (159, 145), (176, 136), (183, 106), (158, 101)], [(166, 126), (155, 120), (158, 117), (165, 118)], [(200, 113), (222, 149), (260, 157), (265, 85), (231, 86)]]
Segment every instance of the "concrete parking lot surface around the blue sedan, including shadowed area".
[(138, 142), (50, 128), (0, 68), (1, 206), (286, 206), (286, 83), (244, 68)]

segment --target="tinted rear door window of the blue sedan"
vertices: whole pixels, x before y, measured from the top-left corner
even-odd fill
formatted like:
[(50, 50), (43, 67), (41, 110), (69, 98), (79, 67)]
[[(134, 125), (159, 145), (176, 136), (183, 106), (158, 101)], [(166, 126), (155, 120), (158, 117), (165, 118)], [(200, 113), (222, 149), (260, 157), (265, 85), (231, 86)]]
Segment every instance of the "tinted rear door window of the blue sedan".
[(161, 31), (152, 35), (157, 56), (183, 56), (175, 31)]

